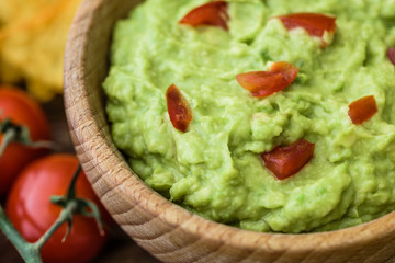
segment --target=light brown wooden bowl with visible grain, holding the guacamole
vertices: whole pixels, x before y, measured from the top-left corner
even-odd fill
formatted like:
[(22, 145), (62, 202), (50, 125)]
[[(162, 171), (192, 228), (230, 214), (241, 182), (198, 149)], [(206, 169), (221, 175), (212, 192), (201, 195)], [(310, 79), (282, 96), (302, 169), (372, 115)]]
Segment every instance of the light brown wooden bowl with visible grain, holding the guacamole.
[(195, 216), (133, 173), (111, 139), (101, 84), (108, 73), (113, 25), (138, 2), (86, 0), (66, 48), (65, 103), (71, 137), (90, 182), (115, 221), (165, 262), (394, 262), (394, 213), (332, 232), (259, 233)]

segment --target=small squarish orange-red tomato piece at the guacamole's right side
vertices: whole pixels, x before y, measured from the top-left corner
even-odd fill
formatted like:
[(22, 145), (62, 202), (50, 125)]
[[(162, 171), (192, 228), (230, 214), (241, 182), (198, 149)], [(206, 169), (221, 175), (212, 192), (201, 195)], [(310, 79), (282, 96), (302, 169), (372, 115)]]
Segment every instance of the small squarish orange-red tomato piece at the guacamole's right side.
[(349, 116), (356, 125), (366, 122), (377, 111), (377, 104), (373, 95), (361, 98), (349, 105)]

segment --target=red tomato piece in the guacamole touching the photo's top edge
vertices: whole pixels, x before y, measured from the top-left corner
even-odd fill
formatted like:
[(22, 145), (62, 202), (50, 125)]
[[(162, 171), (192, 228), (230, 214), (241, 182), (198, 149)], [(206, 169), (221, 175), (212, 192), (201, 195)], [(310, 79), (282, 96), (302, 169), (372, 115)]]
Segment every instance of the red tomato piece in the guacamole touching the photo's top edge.
[(228, 3), (226, 1), (208, 2), (190, 11), (180, 21), (180, 24), (188, 24), (194, 27), (213, 25), (228, 31), (227, 21), (229, 20), (229, 15), (227, 13), (227, 7)]

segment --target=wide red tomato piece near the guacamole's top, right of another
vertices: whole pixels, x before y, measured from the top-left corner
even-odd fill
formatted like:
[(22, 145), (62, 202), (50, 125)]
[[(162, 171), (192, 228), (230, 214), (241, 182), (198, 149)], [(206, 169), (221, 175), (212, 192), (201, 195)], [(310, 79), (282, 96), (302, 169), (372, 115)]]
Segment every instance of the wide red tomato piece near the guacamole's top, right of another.
[[(336, 18), (319, 13), (294, 13), (278, 16), (284, 26), (291, 31), (296, 27), (303, 27), (311, 36), (324, 39), (325, 32), (329, 34), (336, 33)], [(329, 43), (324, 43), (323, 46)]]

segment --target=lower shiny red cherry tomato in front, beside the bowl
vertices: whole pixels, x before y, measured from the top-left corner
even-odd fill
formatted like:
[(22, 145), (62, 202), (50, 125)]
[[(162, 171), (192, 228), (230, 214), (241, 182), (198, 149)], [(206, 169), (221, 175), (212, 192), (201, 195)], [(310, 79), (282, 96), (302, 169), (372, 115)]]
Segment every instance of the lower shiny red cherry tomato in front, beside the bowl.
[[(69, 155), (42, 158), (26, 167), (11, 187), (5, 213), (20, 233), (30, 242), (38, 240), (60, 214), (60, 207), (49, 202), (50, 196), (66, 194), (78, 167), (78, 160)], [(81, 172), (76, 191), (79, 198), (99, 204), (86, 175)], [(70, 236), (61, 226), (42, 250), (44, 262), (79, 263), (92, 260), (103, 247), (106, 237), (101, 237), (92, 218), (76, 216)]]

